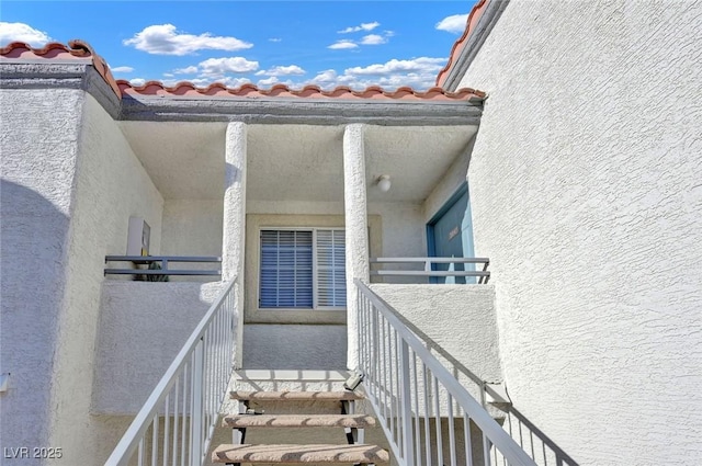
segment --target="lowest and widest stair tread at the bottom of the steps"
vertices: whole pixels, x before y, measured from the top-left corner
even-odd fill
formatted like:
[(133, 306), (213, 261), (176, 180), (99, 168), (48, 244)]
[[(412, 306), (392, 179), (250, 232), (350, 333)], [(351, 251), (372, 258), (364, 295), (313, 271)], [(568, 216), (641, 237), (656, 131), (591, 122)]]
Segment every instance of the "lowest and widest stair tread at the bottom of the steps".
[(377, 445), (219, 445), (213, 463), (389, 463)]

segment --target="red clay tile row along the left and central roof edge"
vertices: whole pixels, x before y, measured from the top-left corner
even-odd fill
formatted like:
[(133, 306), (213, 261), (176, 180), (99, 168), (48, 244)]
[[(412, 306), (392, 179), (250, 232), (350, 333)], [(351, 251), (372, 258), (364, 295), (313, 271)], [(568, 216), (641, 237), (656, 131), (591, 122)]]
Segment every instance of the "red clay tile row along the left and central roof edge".
[[(485, 1), (485, 0), (483, 0)], [(426, 91), (415, 91), (408, 87), (395, 91), (385, 91), (377, 86), (371, 86), (362, 91), (354, 91), (346, 86), (325, 91), (317, 86), (305, 86), (299, 90), (290, 89), (285, 84), (259, 89), (254, 84), (244, 84), (239, 88), (227, 88), (215, 82), (206, 88), (197, 88), (191, 82), (179, 82), (167, 87), (160, 81), (148, 81), (143, 86), (134, 86), (125, 80), (115, 80), (105, 60), (94, 53), (92, 47), (82, 41), (71, 41), (68, 46), (50, 43), (42, 48), (34, 48), (23, 42), (13, 42), (0, 48), (0, 59), (3, 60), (90, 60), (95, 70), (112, 87), (118, 98), (123, 95), (162, 95), (186, 98), (286, 98), (286, 99), (338, 99), (338, 100), (392, 100), (392, 101), (467, 101), (483, 99), (485, 93), (474, 89), (460, 89), (446, 92), (441, 88)]]

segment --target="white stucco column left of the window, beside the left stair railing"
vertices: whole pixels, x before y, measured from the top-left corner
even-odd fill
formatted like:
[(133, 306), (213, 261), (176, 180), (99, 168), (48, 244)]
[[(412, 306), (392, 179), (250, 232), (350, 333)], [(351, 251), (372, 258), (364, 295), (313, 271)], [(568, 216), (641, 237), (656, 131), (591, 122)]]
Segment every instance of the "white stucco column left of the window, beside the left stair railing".
[(236, 366), (241, 367), (244, 342), (244, 248), (246, 232), (246, 156), (247, 127), (235, 122), (227, 125), (225, 143), (224, 218), (222, 232), (222, 280), (238, 277)]

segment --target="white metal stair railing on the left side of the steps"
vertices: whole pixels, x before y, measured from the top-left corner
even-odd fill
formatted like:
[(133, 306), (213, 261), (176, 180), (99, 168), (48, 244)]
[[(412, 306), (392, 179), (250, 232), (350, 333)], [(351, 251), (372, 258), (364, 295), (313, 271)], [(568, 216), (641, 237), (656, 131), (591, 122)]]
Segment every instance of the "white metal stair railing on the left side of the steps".
[(229, 282), (141, 407), (106, 466), (201, 466), (233, 371), (236, 279)]

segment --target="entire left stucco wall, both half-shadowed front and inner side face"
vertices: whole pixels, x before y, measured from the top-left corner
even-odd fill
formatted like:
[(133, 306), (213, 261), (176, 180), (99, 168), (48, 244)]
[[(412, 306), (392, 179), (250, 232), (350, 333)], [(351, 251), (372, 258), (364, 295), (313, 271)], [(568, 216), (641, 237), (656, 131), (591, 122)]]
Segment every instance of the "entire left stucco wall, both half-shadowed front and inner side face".
[(92, 96), (0, 95), (12, 128), (2, 132), (1, 365), (12, 378), (1, 446), (60, 446), (64, 461), (88, 464), (115, 430), (90, 416), (104, 255), (124, 252), (129, 215), (149, 221), (158, 250), (162, 200)]

